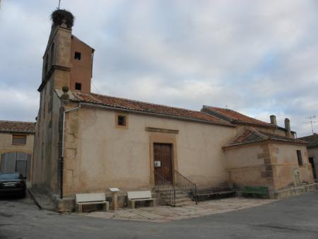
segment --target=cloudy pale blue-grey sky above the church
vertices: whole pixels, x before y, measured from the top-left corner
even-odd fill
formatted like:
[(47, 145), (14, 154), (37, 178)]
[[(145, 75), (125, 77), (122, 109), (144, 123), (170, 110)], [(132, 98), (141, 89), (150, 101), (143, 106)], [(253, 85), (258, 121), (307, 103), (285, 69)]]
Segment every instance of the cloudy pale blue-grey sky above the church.
[[(0, 119), (34, 121), (58, 0), (2, 0)], [(318, 121), (316, 0), (61, 0), (95, 48), (92, 90), (200, 110), (225, 107), (299, 136)], [(314, 124), (318, 132), (318, 124)]]

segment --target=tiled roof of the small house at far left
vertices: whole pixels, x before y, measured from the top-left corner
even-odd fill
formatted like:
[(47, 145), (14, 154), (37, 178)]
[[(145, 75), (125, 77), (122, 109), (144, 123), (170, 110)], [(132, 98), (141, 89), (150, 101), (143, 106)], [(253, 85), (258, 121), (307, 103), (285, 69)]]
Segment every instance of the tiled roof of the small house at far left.
[(0, 120), (0, 132), (30, 133), (35, 132), (35, 122)]

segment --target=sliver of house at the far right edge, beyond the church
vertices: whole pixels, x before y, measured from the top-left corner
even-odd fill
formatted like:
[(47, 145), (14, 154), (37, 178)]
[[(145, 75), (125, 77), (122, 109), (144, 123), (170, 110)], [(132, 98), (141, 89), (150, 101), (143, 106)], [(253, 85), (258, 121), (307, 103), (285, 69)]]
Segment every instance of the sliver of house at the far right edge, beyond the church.
[(318, 134), (312, 134), (310, 136), (301, 137), (300, 139), (309, 142), (309, 146), (307, 146), (308, 151), (308, 160), (312, 165), (312, 173), (314, 175), (314, 179), (318, 179)]

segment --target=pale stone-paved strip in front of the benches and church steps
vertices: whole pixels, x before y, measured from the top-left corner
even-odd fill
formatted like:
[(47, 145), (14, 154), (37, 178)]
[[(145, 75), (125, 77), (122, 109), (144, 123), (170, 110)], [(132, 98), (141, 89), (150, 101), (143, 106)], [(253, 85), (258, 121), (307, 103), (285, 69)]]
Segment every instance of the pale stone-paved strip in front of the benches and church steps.
[(92, 216), (95, 218), (113, 218), (119, 220), (163, 223), (167, 221), (195, 218), (199, 216), (221, 214), (228, 211), (247, 209), (254, 206), (269, 204), (275, 201), (276, 199), (246, 199), (234, 197), (229, 199), (199, 202), (197, 205), (191, 204), (189, 206), (182, 207), (147, 206), (139, 207), (137, 209), (119, 209), (117, 211), (93, 211), (81, 215)]

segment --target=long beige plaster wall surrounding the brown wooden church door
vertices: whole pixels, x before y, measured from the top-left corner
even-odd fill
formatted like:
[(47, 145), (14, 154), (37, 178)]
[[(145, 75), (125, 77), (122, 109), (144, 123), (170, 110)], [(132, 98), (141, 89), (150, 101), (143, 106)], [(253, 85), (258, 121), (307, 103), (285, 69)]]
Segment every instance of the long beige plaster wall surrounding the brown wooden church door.
[[(174, 168), (199, 186), (227, 180), (222, 146), (235, 136), (235, 128), (129, 113), (124, 129), (115, 126), (115, 115), (85, 106), (67, 115), (64, 194), (150, 188), (153, 142), (173, 144)], [(179, 133), (148, 132), (146, 127)]]

